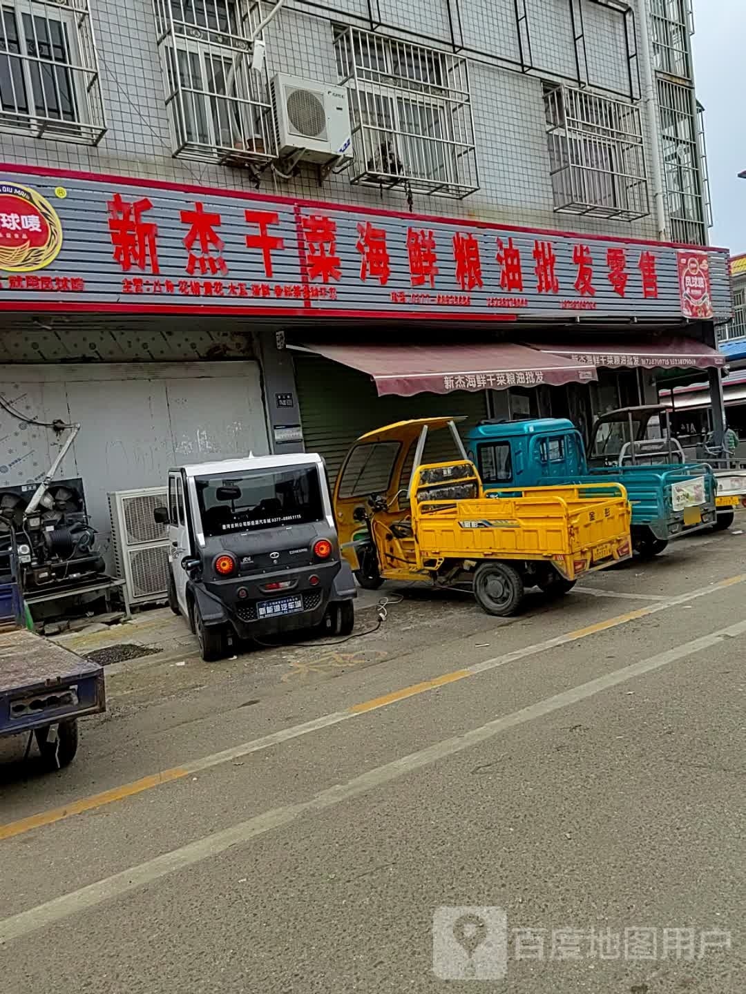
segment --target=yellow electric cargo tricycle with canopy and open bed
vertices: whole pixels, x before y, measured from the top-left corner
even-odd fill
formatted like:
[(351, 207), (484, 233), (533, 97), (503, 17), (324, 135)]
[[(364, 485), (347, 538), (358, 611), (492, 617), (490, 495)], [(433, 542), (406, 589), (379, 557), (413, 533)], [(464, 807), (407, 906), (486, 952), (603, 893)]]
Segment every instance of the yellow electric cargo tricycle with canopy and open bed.
[(526, 587), (566, 593), (582, 574), (630, 558), (624, 486), (531, 487), (485, 498), (461, 419), (399, 421), (358, 438), (347, 453), (334, 515), (361, 586), (467, 587), (488, 614), (507, 616), (520, 609)]

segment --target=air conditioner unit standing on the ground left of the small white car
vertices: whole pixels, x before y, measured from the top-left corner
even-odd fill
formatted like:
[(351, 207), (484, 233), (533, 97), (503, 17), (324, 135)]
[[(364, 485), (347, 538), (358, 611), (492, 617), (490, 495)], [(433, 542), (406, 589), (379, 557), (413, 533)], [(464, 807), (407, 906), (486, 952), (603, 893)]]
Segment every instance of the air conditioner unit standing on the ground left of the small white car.
[(168, 526), (153, 518), (154, 508), (167, 503), (166, 487), (108, 495), (116, 573), (126, 582), (132, 604), (154, 603), (168, 595)]

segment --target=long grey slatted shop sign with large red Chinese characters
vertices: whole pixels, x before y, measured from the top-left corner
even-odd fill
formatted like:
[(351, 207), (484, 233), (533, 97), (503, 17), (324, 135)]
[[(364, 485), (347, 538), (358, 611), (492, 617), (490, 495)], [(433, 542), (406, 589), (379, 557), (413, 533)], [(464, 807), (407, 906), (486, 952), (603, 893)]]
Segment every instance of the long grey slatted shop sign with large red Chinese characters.
[[(125, 179), (66, 177), (62, 188), (59, 177), (35, 175), (38, 190), (24, 179), (22, 171), (0, 179), (6, 306), (69, 293), (71, 307), (197, 311), (209, 303), (227, 313), (329, 317), (559, 319), (576, 311), (680, 320), (730, 311), (727, 254), (717, 249)], [(38, 269), (44, 279), (25, 275)], [(148, 300), (135, 304), (135, 296)]]

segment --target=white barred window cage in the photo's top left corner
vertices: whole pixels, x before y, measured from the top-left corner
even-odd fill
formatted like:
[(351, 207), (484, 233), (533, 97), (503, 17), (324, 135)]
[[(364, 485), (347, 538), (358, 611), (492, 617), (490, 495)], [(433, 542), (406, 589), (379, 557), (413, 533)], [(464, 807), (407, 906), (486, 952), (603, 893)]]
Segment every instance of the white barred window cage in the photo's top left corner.
[(100, 141), (106, 125), (88, 0), (0, 3), (0, 130)]

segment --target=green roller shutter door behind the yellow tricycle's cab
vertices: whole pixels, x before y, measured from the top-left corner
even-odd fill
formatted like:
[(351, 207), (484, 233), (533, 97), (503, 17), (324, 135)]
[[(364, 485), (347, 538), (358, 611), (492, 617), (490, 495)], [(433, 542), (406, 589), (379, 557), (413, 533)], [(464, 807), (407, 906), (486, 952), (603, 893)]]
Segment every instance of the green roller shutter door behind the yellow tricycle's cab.
[[(318, 357), (296, 354), (294, 361), (305, 450), (324, 457), (332, 484), (350, 445), (366, 431), (413, 417), (465, 415), (464, 432), (487, 416), (484, 393), (379, 397), (371, 378), (357, 370)], [(453, 452), (450, 433), (439, 431), (425, 457), (435, 462)]]

